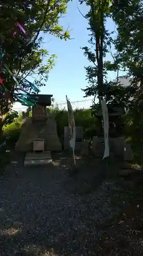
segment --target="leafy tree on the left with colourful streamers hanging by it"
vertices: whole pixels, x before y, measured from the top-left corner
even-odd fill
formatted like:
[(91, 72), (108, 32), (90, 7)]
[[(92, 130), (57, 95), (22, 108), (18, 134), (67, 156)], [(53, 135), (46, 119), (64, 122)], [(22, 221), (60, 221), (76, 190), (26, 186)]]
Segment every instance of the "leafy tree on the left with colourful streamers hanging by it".
[[(15, 75), (21, 89), (32, 92), (32, 84), (26, 82), (28, 76), (36, 74), (39, 79), (34, 81), (36, 87), (44, 86), (49, 71), (54, 65), (55, 55), (51, 55), (47, 63), (43, 60), (48, 57), (48, 51), (40, 49), (43, 38), (40, 32), (49, 33), (60, 39), (68, 39), (69, 32), (59, 25), (59, 18), (66, 13), (68, 0), (30, 1), (4, 0), (0, 2), (0, 51), (4, 53), (1, 65), (1, 78), (7, 91), (1, 87), (0, 106), (3, 119), (0, 121), (0, 131), (7, 112), (10, 109), (9, 92), (14, 93), (18, 85), (9, 74), (2, 72), (4, 64)], [(16, 26), (18, 22), (26, 35)], [(14, 33), (15, 32), (15, 33)], [(14, 33), (14, 34), (13, 34)], [(14, 100), (16, 100), (14, 98)]]

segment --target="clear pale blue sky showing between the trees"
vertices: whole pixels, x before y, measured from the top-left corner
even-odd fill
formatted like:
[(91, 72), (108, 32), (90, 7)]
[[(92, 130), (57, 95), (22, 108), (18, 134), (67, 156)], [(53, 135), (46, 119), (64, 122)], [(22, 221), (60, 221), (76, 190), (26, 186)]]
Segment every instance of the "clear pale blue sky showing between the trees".
[[(88, 7), (79, 5), (78, 1), (69, 2), (67, 14), (60, 19), (60, 25), (65, 29), (71, 30), (71, 40), (60, 40), (49, 34), (42, 34), (44, 37), (43, 48), (49, 51), (49, 55), (55, 54), (58, 59), (55, 59), (55, 66), (49, 73), (49, 79), (46, 87), (41, 88), (41, 94), (53, 94), (55, 102), (62, 103), (66, 101), (65, 95), (68, 95), (71, 101), (84, 100), (84, 89), (88, 86), (88, 81), (85, 80), (86, 73), (84, 66), (89, 65), (89, 61), (83, 56), (83, 51), (80, 47), (89, 46), (88, 39), (89, 31), (88, 20), (83, 18), (77, 9), (77, 5), (83, 15), (87, 14)], [(109, 31), (115, 30), (115, 24), (111, 19), (106, 22), (106, 28)], [(112, 60), (110, 54), (107, 54), (106, 60)], [(120, 75), (123, 75), (121, 72)], [(116, 78), (115, 72), (109, 72), (109, 79)], [(30, 79), (32, 81), (32, 79)], [(89, 98), (90, 99), (90, 98)], [(16, 107), (19, 104), (16, 104)]]

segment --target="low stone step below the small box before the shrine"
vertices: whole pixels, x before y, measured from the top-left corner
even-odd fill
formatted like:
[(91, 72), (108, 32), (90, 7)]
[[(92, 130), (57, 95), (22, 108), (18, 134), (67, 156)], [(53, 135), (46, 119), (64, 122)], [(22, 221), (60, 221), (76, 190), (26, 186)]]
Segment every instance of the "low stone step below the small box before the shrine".
[(50, 151), (42, 153), (27, 153), (24, 160), (24, 166), (27, 165), (40, 165), (52, 163)]

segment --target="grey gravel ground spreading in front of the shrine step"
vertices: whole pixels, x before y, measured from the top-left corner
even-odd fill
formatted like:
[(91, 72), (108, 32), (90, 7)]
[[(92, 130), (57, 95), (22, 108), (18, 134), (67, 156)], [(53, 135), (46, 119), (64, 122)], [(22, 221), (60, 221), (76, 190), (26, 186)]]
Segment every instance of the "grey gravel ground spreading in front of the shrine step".
[(107, 196), (116, 187), (74, 195), (66, 167), (23, 168), (17, 157), (0, 179), (0, 255), (98, 255), (99, 226), (118, 211)]

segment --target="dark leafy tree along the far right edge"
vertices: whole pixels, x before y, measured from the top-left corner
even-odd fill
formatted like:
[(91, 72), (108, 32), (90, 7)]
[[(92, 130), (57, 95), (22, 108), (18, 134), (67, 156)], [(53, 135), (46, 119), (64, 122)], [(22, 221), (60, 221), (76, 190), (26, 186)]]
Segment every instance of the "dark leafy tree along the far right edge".
[(132, 77), (131, 87), (134, 88), (133, 99), (130, 104), (130, 125), (128, 136), (134, 147), (134, 152), (142, 159), (142, 129), (143, 122), (143, 45), (142, 45), (142, 11), (141, 0), (115, 1), (112, 5), (112, 19), (117, 26), (115, 47), (117, 59), (122, 68), (128, 69), (128, 76)]

